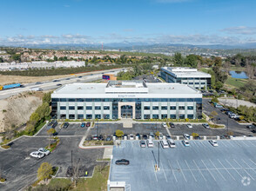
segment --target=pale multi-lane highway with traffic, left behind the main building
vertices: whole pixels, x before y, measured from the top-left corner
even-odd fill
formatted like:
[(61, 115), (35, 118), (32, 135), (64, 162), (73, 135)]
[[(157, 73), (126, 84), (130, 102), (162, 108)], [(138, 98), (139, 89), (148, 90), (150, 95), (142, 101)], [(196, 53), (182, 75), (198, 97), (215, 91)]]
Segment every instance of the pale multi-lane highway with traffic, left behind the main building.
[(49, 89), (57, 89), (58, 87), (61, 87), (62, 85), (68, 84), (68, 83), (93, 82), (93, 81), (102, 79), (103, 74), (117, 75), (118, 72), (121, 70), (126, 70), (126, 69), (108, 69), (108, 70), (102, 70), (102, 71), (96, 71), (96, 72), (94, 71), (94, 72), (88, 72), (88, 73), (75, 74), (74, 76), (71, 76), (71, 77), (57, 78), (56, 80), (52, 80), (52, 81), (26, 83), (26, 84), (22, 84), (23, 85), (22, 88), (6, 89), (6, 90), (0, 91), (0, 100), (6, 99), (12, 95), (17, 95), (24, 91), (30, 91), (30, 89), (34, 89), (34, 88), (49, 90)]

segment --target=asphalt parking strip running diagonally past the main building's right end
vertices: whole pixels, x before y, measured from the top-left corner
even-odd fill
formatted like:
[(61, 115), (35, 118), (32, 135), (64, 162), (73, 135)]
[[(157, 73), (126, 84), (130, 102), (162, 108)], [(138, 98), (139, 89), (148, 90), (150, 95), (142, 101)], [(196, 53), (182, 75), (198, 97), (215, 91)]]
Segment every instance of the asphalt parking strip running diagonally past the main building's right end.
[(222, 113), (220, 109), (212, 107), (209, 103), (211, 99), (203, 99), (203, 112), (206, 115), (210, 115), (212, 111), (216, 111), (218, 115), (216, 118), (220, 118), (217, 124), (228, 125), (229, 131), (232, 131), (234, 135), (253, 135), (250, 129), (246, 128), (246, 125), (240, 125), (234, 119), (228, 117), (228, 115)]

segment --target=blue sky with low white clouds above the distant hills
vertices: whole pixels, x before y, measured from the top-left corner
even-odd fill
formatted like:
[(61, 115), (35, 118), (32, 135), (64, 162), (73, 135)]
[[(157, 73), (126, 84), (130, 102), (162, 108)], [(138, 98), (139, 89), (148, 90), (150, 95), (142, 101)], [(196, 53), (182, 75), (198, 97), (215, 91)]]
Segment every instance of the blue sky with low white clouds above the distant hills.
[(256, 43), (255, 0), (0, 0), (0, 45)]

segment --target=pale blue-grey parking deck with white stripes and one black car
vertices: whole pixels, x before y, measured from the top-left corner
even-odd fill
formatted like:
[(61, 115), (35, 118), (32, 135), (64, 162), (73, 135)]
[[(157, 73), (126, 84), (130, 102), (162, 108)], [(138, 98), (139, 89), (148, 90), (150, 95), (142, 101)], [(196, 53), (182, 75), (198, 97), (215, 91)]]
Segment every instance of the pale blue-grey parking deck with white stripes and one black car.
[[(256, 190), (256, 141), (191, 141), (184, 147), (140, 148), (138, 141), (122, 141), (114, 147), (110, 181), (125, 181), (128, 190)], [(118, 166), (118, 159), (130, 161)]]

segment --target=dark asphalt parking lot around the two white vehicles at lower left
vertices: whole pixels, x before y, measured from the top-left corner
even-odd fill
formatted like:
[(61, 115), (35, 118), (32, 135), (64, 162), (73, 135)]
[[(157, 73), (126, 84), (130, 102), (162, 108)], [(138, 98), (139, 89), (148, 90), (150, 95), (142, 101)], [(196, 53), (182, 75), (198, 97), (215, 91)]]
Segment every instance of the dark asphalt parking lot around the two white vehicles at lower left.
[(37, 169), (45, 161), (59, 167), (57, 177), (65, 177), (67, 168), (71, 166), (71, 150), (73, 165), (80, 169), (79, 175), (84, 176), (85, 171), (88, 171), (91, 176), (97, 164), (96, 160), (103, 156), (104, 148), (81, 149), (78, 148), (80, 141), (81, 137), (61, 137), (59, 145), (51, 155), (39, 160), (31, 158), (30, 152), (47, 146), (49, 141), (46, 137), (22, 137), (10, 149), (0, 149), (0, 169), (3, 177), (7, 179), (5, 184), (0, 184), (0, 190), (20, 190), (33, 183), (37, 180)]

